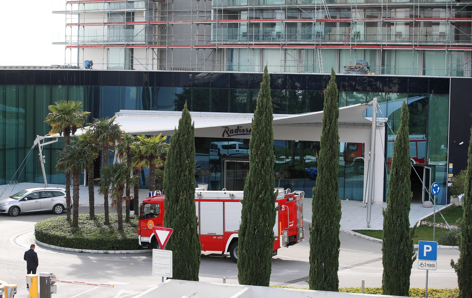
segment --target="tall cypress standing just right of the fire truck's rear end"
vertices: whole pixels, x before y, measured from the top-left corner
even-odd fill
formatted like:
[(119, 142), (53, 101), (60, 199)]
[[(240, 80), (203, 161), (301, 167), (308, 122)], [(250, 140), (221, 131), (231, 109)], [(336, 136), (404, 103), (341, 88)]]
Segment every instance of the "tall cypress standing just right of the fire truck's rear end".
[(325, 90), (318, 176), (313, 188), (312, 226), (310, 229), (310, 290), (336, 291), (339, 286), (339, 229), (341, 201), (337, 191), (339, 134), (337, 85), (333, 68)]

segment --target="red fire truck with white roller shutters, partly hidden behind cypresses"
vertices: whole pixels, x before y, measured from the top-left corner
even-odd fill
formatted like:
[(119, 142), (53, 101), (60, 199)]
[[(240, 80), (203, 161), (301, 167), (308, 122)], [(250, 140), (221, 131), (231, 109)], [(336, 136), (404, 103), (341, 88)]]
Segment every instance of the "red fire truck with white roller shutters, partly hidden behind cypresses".
[[(277, 249), (305, 240), (303, 229), (303, 191), (286, 190), (278, 193), (274, 225), (273, 255)], [(164, 197), (159, 192), (143, 200), (140, 206), (138, 226), (139, 245), (158, 248), (152, 227), (164, 226)], [(198, 217), (198, 233), (202, 251), (229, 252), (237, 262), (238, 230), (241, 223), (243, 191), (196, 190), (195, 209)], [(172, 227), (169, 227), (172, 228)]]

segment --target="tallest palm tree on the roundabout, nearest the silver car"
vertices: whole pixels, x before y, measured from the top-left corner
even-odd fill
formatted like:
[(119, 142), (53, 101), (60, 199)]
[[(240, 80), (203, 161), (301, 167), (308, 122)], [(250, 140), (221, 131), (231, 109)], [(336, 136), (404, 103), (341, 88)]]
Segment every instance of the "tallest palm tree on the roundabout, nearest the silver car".
[[(82, 110), (82, 102), (59, 100), (49, 107), (50, 113), (46, 116), (47, 124), (51, 125), (49, 134), (64, 133), (65, 146), (70, 145), (70, 134), (75, 134), (77, 127), (82, 127), (90, 112)], [(66, 174), (66, 214), (67, 220), (70, 220), (70, 173)]]

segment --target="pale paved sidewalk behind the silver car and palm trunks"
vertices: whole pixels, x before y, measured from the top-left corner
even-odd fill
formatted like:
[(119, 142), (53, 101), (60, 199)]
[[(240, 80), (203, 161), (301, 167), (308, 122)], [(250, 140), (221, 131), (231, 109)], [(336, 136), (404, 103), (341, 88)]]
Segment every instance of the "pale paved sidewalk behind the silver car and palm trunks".
[[(60, 187), (60, 188), (66, 188), (66, 185), (64, 184), (48, 184), (49, 187)], [(43, 183), (29, 183), (29, 182), (23, 182), (23, 183), (18, 183), (18, 184), (13, 184), (13, 185), (0, 185), (0, 193), (5, 190), (3, 193), (2, 198), (9, 197), (12, 194), (17, 193), (20, 190), (24, 190), (27, 188), (32, 188), (32, 187), (44, 187)], [(95, 185), (94, 187), (94, 193), (95, 193), (95, 206), (103, 206), (103, 196), (98, 193), (99, 186)], [(71, 185), (71, 195), (72, 195), (72, 185)], [(131, 191), (133, 194), (133, 191)], [(139, 189), (139, 202), (141, 203), (143, 199), (147, 197), (148, 190), (147, 189)], [(108, 199), (109, 204), (110, 199)], [(80, 185), (79, 186), (79, 206), (88, 206), (89, 201), (88, 201), (88, 186)]]

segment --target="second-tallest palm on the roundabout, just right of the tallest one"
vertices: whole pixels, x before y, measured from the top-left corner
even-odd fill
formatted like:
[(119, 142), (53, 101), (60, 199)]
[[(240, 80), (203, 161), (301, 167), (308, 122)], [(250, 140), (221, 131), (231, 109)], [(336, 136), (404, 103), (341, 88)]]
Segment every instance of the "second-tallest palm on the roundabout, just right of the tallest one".
[[(115, 141), (120, 141), (123, 132), (120, 129), (120, 125), (115, 123), (116, 116), (111, 118), (104, 119), (93, 119), (91, 125), (91, 131), (93, 138), (101, 146), (101, 166), (108, 165), (108, 152), (110, 146), (115, 144)], [(98, 181), (98, 180), (97, 180)], [(103, 207), (105, 209), (105, 224), (110, 224), (110, 219), (108, 218), (108, 191), (105, 191), (103, 194)]]

